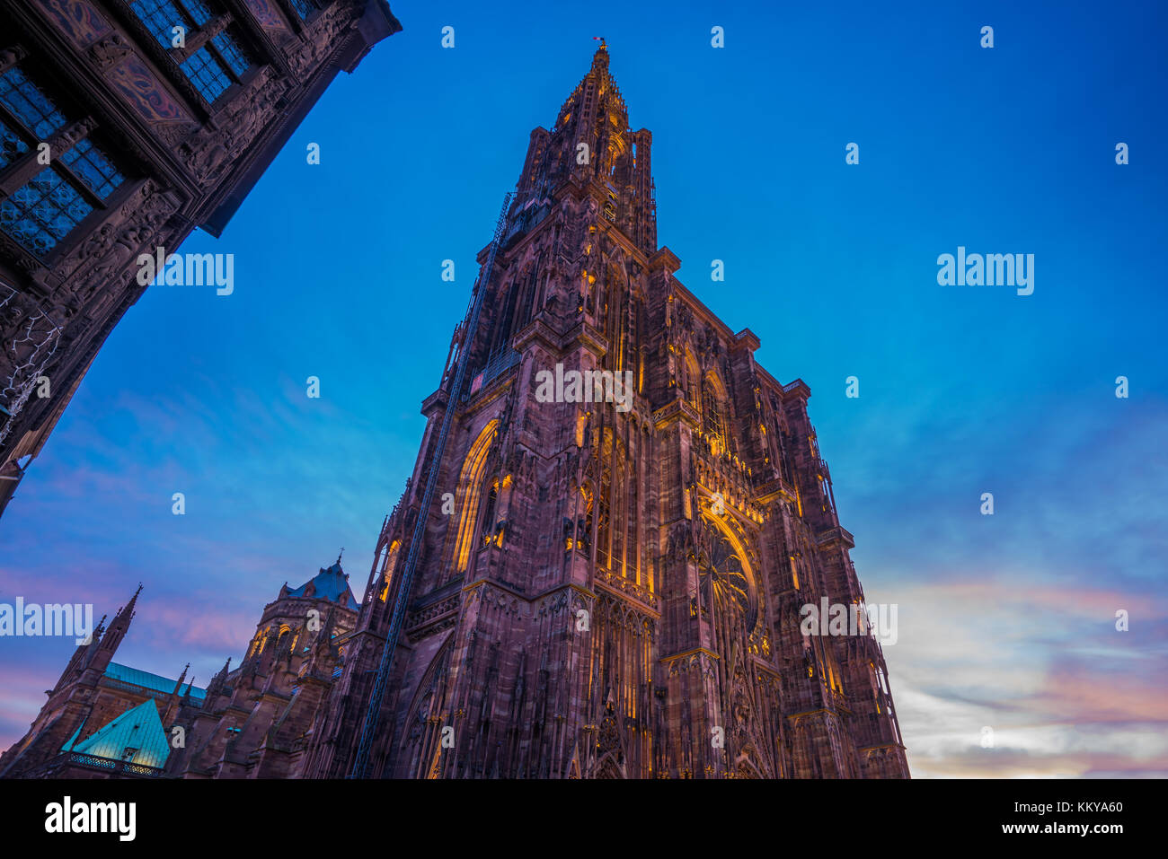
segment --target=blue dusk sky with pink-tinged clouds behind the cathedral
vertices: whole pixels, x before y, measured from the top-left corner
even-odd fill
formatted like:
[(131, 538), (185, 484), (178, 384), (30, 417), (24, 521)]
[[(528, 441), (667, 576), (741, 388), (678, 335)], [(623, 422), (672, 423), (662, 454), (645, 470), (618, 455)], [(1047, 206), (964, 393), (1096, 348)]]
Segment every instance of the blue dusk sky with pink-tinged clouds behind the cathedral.
[[(151, 287), (98, 354), (0, 521), (0, 601), (112, 615), (142, 582), (117, 661), (203, 685), (342, 546), (360, 599), (475, 254), (604, 36), (679, 279), (812, 390), (868, 601), (898, 606), (912, 775), (1168, 776), (1164, 4), (391, 6), (183, 245), (234, 253), (234, 293)], [(959, 246), (1034, 254), (1034, 293), (940, 286)], [(0, 748), (72, 647), (0, 640)]]

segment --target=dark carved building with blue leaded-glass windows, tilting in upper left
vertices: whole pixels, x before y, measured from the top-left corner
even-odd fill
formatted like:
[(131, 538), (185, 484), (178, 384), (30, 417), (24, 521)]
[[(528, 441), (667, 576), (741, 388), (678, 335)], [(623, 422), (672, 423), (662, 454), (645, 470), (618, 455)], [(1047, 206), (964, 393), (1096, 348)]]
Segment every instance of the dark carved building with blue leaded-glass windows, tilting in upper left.
[(0, 511), (145, 291), (139, 254), (218, 236), (398, 30), (385, 0), (0, 5)]

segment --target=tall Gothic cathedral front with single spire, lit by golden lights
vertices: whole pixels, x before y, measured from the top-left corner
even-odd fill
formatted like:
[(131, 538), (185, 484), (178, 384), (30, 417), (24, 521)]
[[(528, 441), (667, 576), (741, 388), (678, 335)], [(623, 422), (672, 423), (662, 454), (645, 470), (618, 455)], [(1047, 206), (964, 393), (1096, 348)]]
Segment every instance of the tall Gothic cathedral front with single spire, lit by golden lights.
[(305, 775), (909, 775), (877, 641), (800, 628), (863, 605), (811, 392), (674, 277), (652, 140), (603, 43), (531, 132)]

